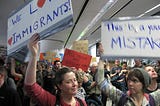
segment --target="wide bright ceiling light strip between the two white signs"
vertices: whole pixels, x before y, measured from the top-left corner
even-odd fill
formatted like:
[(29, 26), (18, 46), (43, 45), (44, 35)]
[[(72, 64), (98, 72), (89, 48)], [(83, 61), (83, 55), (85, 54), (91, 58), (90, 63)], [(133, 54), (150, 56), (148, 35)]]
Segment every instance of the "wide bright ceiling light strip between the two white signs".
[(80, 36), (76, 39), (76, 41), (80, 40), (86, 33), (89, 31), (98, 20), (102, 18), (102, 16), (116, 3), (118, 0), (109, 0), (98, 12), (98, 14), (93, 18), (91, 23), (83, 30), (83, 32), (80, 34)]

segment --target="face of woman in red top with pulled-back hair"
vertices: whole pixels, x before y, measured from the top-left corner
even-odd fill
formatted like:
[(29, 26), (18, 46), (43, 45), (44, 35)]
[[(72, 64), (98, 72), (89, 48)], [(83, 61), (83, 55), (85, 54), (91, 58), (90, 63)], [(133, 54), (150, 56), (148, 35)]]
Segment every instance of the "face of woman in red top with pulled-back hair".
[(66, 73), (62, 84), (59, 85), (59, 88), (61, 89), (62, 94), (75, 95), (78, 89), (78, 82), (75, 73)]

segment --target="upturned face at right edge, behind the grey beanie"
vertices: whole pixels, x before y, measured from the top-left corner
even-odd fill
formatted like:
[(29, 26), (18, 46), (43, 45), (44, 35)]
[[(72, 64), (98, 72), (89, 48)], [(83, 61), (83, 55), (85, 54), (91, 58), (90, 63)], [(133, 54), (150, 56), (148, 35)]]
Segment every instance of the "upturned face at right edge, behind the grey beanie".
[(145, 67), (145, 70), (148, 72), (152, 79), (157, 78), (158, 74), (152, 66)]

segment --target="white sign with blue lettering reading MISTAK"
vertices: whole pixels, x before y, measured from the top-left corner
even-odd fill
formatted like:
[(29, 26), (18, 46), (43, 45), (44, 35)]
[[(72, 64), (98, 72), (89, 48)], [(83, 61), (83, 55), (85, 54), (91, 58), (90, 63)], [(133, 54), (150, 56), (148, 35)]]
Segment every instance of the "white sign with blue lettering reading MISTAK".
[(102, 22), (104, 56), (159, 58), (160, 17)]

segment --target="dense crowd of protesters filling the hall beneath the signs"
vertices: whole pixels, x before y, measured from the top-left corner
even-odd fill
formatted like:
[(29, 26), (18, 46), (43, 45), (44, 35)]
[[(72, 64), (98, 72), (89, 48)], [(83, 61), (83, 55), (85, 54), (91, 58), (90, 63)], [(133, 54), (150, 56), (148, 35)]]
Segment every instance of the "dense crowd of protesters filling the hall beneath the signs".
[(0, 106), (160, 106), (160, 64), (135, 59), (129, 67), (115, 59), (110, 66), (100, 58), (84, 71), (60, 60), (37, 61), (38, 42), (36, 33), (28, 42), (28, 63), (1, 59)]

